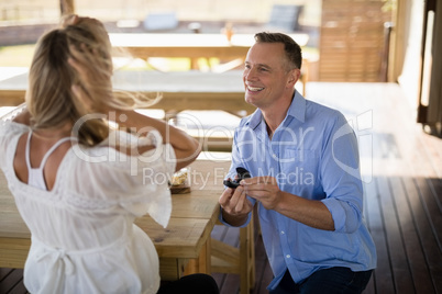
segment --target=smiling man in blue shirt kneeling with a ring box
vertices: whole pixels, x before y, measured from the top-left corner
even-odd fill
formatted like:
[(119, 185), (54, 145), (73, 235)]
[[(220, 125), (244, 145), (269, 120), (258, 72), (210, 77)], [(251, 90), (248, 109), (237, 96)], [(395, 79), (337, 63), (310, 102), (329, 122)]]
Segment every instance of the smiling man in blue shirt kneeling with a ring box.
[(274, 280), (270, 293), (361, 293), (376, 267), (363, 222), (356, 137), (343, 115), (295, 90), (301, 49), (258, 33), (245, 60), (245, 101), (257, 108), (235, 131), (232, 166), (252, 178), (220, 196), (221, 220), (245, 226), (253, 206)]

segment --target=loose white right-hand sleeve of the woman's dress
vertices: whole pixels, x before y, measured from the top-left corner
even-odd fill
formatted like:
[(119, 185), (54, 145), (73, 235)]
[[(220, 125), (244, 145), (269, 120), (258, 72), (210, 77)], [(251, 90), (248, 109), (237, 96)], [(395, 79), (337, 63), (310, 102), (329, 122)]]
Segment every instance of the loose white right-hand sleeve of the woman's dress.
[[(134, 143), (153, 145), (154, 149), (137, 156), (118, 151)], [(172, 145), (163, 144), (158, 132), (139, 138), (125, 132), (109, 136), (103, 146), (89, 150), (77, 147), (71, 189), (86, 195), (89, 205), (102, 205), (107, 210), (123, 210), (134, 216), (150, 214), (166, 227), (172, 212), (169, 181), (176, 167)], [(104, 146), (108, 145), (108, 146)], [(97, 207), (100, 208), (100, 207)]]

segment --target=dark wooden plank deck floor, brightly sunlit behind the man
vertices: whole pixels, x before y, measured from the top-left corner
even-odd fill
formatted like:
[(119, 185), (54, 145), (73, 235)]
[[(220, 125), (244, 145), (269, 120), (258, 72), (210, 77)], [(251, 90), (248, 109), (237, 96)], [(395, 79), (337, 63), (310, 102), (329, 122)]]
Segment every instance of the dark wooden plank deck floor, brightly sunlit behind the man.
[[(442, 139), (415, 123), (397, 84), (311, 82), (307, 98), (341, 110), (360, 138), (365, 218), (378, 252), (364, 293), (442, 293)], [(237, 236), (223, 226), (212, 233), (231, 245)], [(264, 294), (272, 271), (258, 236), (255, 246), (251, 293)], [(222, 294), (239, 293), (239, 275), (213, 276)], [(0, 269), (0, 293), (26, 293), (21, 279), (21, 270)]]

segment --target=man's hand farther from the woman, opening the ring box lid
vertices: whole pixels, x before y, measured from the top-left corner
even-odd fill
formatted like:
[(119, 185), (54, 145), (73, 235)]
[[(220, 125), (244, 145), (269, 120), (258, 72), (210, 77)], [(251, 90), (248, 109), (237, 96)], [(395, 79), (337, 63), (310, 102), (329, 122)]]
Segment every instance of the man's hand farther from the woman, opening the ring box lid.
[(255, 177), (241, 181), (244, 192), (259, 201), (267, 210), (275, 210), (281, 200), (281, 191), (274, 177)]

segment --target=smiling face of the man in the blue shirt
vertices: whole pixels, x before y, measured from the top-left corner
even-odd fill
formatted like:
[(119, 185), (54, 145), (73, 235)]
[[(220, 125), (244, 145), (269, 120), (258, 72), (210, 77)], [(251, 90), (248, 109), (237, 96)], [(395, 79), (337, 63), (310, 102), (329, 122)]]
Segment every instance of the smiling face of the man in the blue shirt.
[(294, 86), (288, 83), (291, 75), (285, 63), (283, 43), (256, 43), (250, 48), (243, 72), (247, 103), (266, 109), (292, 93)]

